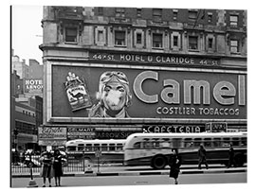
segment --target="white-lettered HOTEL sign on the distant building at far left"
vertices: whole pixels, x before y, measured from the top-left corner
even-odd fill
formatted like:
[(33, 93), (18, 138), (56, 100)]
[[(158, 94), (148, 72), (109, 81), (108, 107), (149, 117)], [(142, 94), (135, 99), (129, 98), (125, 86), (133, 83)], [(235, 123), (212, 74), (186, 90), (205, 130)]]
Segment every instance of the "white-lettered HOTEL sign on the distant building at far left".
[(43, 79), (24, 79), (26, 94), (43, 94)]

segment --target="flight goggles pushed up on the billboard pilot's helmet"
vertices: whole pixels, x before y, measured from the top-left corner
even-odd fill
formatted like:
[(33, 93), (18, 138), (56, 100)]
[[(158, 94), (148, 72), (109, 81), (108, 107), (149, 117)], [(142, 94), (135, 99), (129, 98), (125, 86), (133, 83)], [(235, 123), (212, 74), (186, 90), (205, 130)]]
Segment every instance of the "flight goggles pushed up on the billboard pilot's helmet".
[(110, 81), (114, 77), (116, 77), (122, 83), (129, 84), (129, 81), (128, 81), (127, 77), (125, 76), (125, 74), (120, 72), (120, 71), (107, 71), (107, 72), (104, 72), (101, 75), (100, 82), (101, 83), (107, 83), (108, 81)]

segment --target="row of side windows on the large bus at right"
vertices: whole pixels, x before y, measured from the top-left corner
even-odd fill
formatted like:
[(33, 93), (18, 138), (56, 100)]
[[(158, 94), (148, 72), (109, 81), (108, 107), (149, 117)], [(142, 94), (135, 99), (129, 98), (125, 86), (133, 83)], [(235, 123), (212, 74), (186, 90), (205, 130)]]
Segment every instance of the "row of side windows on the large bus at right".
[(134, 148), (198, 148), (203, 145), (207, 148), (225, 148), (232, 144), (234, 147), (246, 147), (247, 138), (186, 138), (172, 141), (142, 141), (134, 144)]

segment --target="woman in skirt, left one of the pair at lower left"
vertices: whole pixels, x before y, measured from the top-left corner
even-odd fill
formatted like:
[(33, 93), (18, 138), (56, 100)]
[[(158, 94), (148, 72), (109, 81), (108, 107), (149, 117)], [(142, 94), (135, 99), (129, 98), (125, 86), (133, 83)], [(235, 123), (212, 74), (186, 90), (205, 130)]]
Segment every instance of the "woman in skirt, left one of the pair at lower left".
[(46, 178), (51, 187), (51, 178), (53, 178), (53, 167), (52, 167), (52, 154), (49, 151), (45, 151), (41, 154), (41, 160), (43, 163), (41, 170), (41, 177), (43, 177), (43, 187), (46, 187)]

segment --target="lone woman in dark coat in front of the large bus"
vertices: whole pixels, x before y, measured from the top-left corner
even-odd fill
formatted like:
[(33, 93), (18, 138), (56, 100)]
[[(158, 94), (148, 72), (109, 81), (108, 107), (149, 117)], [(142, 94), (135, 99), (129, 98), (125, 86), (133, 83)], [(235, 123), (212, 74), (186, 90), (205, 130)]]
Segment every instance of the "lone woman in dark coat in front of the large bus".
[(176, 148), (172, 149), (172, 154), (170, 155), (170, 160), (169, 160), (169, 166), (170, 166), (170, 178), (174, 178), (174, 184), (177, 184), (178, 181), (178, 174), (179, 174), (179, 167), (181, 166), (181, 160), (178, 156), (178, 152)]

